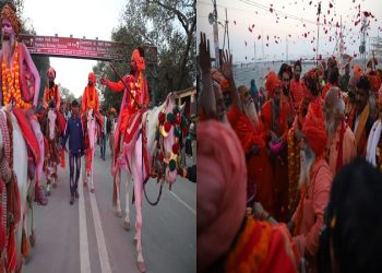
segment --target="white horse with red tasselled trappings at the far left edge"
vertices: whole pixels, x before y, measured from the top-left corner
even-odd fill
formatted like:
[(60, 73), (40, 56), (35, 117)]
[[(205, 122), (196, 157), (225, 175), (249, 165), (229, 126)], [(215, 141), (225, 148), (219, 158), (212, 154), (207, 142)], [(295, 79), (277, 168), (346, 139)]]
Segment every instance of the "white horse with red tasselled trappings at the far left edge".
[(29, 246), (36, 240), (33, 216), (36, 177), (28, 179), (28, 149), (17, 119), (13, 112), (3, 109), (0, 109), (0, 151), (1, 252), (8, 239), (7, 261), (3, 264), (2, 260), (0, 268), (7, 268), (7, 272), (20, 272), (23, 260), (28, 259)]

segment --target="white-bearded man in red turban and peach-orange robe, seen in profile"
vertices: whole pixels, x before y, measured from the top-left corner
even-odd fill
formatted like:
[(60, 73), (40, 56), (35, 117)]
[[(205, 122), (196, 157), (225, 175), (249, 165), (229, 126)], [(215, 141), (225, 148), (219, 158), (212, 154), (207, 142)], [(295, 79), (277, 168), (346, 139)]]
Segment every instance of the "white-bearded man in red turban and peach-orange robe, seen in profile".
[(329, 202), (332, 173), (324, 159), (326, 131), (321, 103), (312, 102), (302, 127), (300, 202), (289, 228), (309, 272), (318, 271), (320, 230)]

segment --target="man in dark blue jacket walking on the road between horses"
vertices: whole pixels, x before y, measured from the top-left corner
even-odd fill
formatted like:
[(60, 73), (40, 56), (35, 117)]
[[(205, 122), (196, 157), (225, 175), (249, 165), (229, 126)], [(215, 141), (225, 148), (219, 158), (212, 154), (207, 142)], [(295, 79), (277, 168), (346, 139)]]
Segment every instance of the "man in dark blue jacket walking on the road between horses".
[[(72, 102), (72, 116), (68, 120), (65, 131), (62, 138), (61, 146), (65, 151), (67, 140), (69, 139), (69, 166), (70, 166), (70, 204), (74, 203), (74, 197), (79, 198), (79, 178), (81, 171), (81, 156), (85, 154), (84, 132), (82, 121), (79, 116), (79, 103), (74, 99)], [(74, 161), (75, 161), (75, 180), (74, 176)]]

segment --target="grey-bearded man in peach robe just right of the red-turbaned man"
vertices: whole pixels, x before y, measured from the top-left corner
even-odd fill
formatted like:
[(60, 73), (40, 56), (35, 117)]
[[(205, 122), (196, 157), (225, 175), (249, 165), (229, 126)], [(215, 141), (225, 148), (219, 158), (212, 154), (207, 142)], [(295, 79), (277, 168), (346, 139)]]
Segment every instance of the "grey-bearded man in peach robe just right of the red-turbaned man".
[(335, 176), (338, 170), (357, 156), (356, 140), (345, 122), (345, 103), (338, 87), (331, 87), (323, 107), (327, 133), (329, 166)]

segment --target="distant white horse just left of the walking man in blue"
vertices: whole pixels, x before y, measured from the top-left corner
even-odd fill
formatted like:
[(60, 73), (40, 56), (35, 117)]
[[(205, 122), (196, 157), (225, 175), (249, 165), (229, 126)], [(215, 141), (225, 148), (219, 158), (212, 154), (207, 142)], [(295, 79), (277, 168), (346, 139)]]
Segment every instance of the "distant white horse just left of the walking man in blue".
[(58, 174), (57, 174), (57, 165), (60, 161), (60, 150), (58, 145), (58, 127), (56, 124), (57, 114), (55, 109), (49, 109), (47, 115), (47, 123), (44, 130), (45, 136), (48, 139), (49, 143), (49, 156), (47, 159), (47, 170), (46, 170), (46, 179), (47, 179), (47, 195), (50, 194), (50, 183), (52, 182), (53, 188), (57, 187)]

